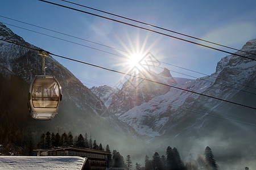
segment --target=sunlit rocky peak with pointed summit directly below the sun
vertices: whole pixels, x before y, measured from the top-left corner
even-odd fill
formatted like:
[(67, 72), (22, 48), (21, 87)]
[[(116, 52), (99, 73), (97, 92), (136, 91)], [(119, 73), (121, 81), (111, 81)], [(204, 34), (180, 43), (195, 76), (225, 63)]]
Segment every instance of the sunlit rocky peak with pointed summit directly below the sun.
[[(151, 72), (150, 75), (148, 75), (148, 79), (172, 86), (177, 84), (174, 78), (172, 78), (170, 71), (167, 69), (164, 69), (160, 74)], [(147, 103), (156, 96), (164, 95), (168, 91), (170, 91), (170, 87), (148, 82), (147, 80), (130, 78), (123, 84), (121, 90), (113, 95), (109, 110), (114, 113), (115, 116), (119, 117), (130, 109)]]

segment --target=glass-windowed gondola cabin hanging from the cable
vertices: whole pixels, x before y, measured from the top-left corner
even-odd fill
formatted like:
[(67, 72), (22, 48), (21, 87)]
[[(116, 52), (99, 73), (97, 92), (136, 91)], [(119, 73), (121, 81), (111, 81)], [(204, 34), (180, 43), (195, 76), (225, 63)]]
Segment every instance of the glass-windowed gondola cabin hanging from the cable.
[(51, 120), (61, 99), (61, 87), (55, 76), (37, 75), (30, 84), (28, 110), (35, 120)]

